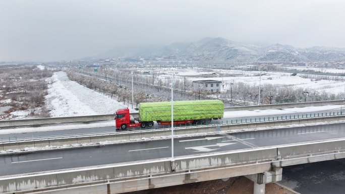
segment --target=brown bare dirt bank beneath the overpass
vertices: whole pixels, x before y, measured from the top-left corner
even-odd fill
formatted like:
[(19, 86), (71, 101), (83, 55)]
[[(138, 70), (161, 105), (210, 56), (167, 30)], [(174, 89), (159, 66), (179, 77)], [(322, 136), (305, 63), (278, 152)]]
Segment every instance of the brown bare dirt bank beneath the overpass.
[[(162, 188), (152, 188), (127, 194), (253, 194), (254, 182), (244, 176), (232, 177), (227, 181), (210, 180)], [(295, 194), (275, 183), (266, 184), (266, 194)]]

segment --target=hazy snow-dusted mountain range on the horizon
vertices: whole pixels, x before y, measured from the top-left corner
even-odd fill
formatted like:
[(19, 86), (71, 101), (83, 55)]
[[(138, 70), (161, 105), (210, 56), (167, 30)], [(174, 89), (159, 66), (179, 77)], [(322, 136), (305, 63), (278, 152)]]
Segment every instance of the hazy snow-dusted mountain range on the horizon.
[(301, 62), (344, 61), (345, 48), (314, 46), (295, 48), (290, 45), (273, 44), (255, 46), (234, 42), (224, 38), (203, 38), (191, 43), (121, 47), (93, 56), (94, 58), (117, 57), (166, 57), (176, 60), (225, 60), (233, 62)]

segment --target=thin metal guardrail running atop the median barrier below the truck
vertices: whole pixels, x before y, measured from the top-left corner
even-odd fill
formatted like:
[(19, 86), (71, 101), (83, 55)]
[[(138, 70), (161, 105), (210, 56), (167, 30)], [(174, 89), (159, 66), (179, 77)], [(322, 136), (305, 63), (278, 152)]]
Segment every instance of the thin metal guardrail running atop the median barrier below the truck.
[[(262, 123), (262, 122), (272, 122), (272, 121), (280, 121), (280, 120), (301, 120), (301, 119), (309, 119), (309, 118), (322, 118), (322, 117), (344, 117), (345, 114), (342, 114), (342, 112), (329, 112), (329, 113), (314, 113), (314, 114), (302, 114), (302, 115), (289, 115), (289, 116), (277, 116), (277, 117), (264, 117), (262, 120), (259, 119), (241, 119), (241, 120), (231, 120), (231, 122), (226, 121), (223, 122), (210, 122), (206, 124), (200, 124), (200, 125), (175, 125), (174, 130), (183, 130), (186, 128), (201, 128), (201, 127), (209, 127), (209, 126), (223, 126), (223, 125), (236, 125), (236, 124), (247, 124), (247, 123)], [(66, 140), (66, 139), (74, 139), (74, 138), (90, 138), (90, 137), (102, 137), (102, 136), (111, 136), (111, 135), (122, 135), (122, 134), (135, 134), (135, 133), (141, 133), (141, 132), (162, 132), (162, 131), (170, 131), (171, 127), (170, 125), (168, 127), (162, 127), (162, 128), (140, 128), (139, 130), (133, 130), (133, 131), (121, 131), (121, 132), (106, 132), (106, 133), (89, 133), (89, 134), (76, 134), (76, 135), (61, 135), (61, 136), (46, 136), (46, 137), (32, 137), (32, 138), (19, 138), (15, 137), (15, 139), (12, 139), (9, 137), (9, 139), (3, 139), (0, 141), (1, 144), (10, 144), (10, 143), (22, 143), (22, 142), (36, 142), (36, 141), (49, 141), (49, 140)]]

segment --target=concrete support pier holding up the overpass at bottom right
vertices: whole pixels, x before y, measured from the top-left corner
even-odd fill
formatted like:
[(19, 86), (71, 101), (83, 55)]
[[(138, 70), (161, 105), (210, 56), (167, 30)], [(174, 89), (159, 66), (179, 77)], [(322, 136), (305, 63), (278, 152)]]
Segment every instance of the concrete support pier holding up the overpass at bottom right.
[(282, 168), (274, 167), (272, 171), (264, 173), (246, 175), (254, 182), (254, 194), (264, 194), (266, 183), (280, 181), (282, 178)]

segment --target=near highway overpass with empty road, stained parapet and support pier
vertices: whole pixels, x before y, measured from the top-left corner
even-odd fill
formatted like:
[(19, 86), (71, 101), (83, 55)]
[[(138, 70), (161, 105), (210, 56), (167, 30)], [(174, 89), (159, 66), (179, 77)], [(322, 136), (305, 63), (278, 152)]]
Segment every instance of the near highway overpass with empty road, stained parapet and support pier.
[(284, 166), (344, 158), (344, 127), (179, 138), (175, 161), (170, 140), (1, 155), (0, 192), (122, 193), (246, 175), (255, 181), (254, 193), (263, 193)]

